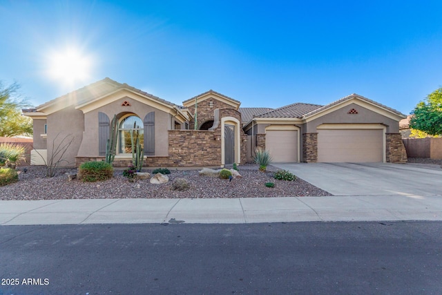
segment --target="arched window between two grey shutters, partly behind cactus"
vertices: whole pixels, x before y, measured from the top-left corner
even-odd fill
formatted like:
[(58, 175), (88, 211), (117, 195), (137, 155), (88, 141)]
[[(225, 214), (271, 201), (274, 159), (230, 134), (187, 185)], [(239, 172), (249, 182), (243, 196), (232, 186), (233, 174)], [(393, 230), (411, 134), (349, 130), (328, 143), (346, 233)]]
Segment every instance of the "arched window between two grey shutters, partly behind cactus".
[(144, 146), (143, 121), (135, 116), (124, 117), (118, 128), (118, 153), (132, 153), (132, 142), (135, 145), (136, 138), (140, 139), (140, 144)]

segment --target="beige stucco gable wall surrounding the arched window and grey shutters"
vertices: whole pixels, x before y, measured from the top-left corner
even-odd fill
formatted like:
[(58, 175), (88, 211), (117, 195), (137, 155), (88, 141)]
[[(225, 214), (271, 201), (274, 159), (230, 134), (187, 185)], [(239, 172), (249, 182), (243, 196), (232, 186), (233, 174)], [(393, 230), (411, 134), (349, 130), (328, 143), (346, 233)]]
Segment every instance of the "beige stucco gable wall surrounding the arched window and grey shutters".
[[(123, 102), (129, 102), (131, 106), (122, 106)], [(84, 115), (84, 124), (87, 126), (83, 135), (83, 142), (81, 142), (78, 151), (79, 157), (97, 157), (98, 151), (98, 113), (105, 113), (109, 117), (109, 122), (112, 121), (113, 116), (118, 118), (133, 113), (144, 120), (144, 117), (151, 112), (155, 112), (155, 155), (168, 155), (169, 149), (169, 135), (167, 131), (171, 129), (172, 116), (169, 113), (160, 111), (157, 108), (138, 102), (130, 97), (122, 97), (114, 102), (101, 106)]]

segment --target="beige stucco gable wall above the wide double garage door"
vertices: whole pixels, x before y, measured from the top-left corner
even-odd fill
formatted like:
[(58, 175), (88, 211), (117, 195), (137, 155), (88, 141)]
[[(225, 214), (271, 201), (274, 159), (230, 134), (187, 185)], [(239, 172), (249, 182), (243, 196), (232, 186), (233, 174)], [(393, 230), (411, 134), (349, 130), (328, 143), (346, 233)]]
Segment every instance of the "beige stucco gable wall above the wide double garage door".
[[(352, 108), (358, 111), (358, 114), (348, 114)], [(343, 108), (339, 108), (332, 113), (328, 113), (318, 117), (315, 120), (307, 122), (305, 129), (302, 129), (303, 133), (316, 133), (316, 127), (320, 124), (384, 124), (387, 126), (386, 133), (398, 133), (399, 122), (389, 117), (385, 117), (374, 111), (370, 111), (358, 104), (349, 104)]]

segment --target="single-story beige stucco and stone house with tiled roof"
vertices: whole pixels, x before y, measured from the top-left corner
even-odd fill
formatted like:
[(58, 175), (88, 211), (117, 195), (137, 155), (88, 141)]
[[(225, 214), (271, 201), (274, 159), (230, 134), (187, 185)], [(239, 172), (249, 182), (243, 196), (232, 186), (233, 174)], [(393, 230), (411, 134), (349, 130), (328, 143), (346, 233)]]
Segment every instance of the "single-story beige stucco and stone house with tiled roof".
[(243, 164), (255, 146), (269, 150), (274, 162), (406, 161), (398, 124), (405, 115), (356, 94), (327, 106), (271, 109), (240, 108), (238, 100), (207, 91), (179, 106), (105, 78), (23, 115), (34, 123), (31, 164), (60, 157), (66, 142), (65, 166), (104, 160), (114, 116), (114, 166), (131, 164), (129, 134), (140, 137), (149, 167)]

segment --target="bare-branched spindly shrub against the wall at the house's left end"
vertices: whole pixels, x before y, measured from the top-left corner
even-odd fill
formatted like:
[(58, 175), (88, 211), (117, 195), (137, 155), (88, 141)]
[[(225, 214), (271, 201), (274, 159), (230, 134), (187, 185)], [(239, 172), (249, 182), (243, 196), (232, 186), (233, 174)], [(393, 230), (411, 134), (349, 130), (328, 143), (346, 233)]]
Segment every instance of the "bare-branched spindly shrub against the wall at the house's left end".
[(46, 165), (46, 177), (48, 178), (52, 178), (55, 176), (55, 173), (57, 173), (57, 170), (59, 169), (61, 164), (70, 164), (67, 160), (64, 159), (64, 155), (68, 151), (70, 144), (74, 142), (75, 137), (68, 134), (63, 137), (63, 139), (58, 142), (58, 144), (55, 144), (59, 135), (60, 133), (57, 133), (57, 136), (55, 136), (54, 140), (52, 141), (52, 154), (48, 155), (48, 158), (45, 158), (36, 149), (34, 150), (35, 153), (37, 153), (37, 155), (39, 155), (40, 158), (43, 159), (44, 164)]

